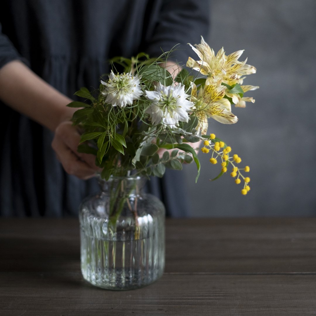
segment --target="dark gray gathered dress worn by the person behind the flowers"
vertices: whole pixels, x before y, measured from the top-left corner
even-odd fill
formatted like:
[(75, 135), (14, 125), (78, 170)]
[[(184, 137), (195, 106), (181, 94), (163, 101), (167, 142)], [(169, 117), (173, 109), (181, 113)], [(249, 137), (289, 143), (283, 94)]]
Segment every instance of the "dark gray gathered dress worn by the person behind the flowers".
[[(159, 56), (180, 43), (174, 59), (185, 64), (186, 45), (207, 37), (208, 0), (2, 0), (0, 67), (23, 60), (72, 97), (98, 87), (108, 59), (147, 52)], [(18, 93), (18, 82), (17, 93)], [(0, 87), (1, 88), (1, 87)], [(0, 215), (76, 215), (83, 197), (98, 191), (95, 179), (64, 172), (51, 148), (52, 133), (1, 103)], [(149, 181), (167, 214), (185, 216), (181, 172)]]

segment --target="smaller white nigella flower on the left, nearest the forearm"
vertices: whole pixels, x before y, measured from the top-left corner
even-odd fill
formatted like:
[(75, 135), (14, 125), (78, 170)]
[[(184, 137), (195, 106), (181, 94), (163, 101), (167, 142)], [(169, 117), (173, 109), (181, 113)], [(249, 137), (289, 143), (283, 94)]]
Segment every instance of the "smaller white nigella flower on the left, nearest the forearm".
[(114, 75), (111, 70), (109, 80), (107, 82), (101, 80), (101, 83), (104, 85), (101, 93), (106, 95), (105, 102), (111, 103), (112, 106), (131, 105), (133, 100), (143, 94), (138, 76), (132, 76), (131, 73)]

